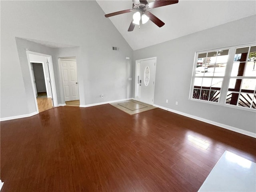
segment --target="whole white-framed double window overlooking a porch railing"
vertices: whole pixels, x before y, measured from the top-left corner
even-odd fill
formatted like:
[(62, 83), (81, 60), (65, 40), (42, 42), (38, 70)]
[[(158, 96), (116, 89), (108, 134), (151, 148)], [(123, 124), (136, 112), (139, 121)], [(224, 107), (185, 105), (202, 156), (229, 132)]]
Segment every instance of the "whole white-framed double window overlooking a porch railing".
[(190, 99), (256, 109), (256, 46), (196, 53)]

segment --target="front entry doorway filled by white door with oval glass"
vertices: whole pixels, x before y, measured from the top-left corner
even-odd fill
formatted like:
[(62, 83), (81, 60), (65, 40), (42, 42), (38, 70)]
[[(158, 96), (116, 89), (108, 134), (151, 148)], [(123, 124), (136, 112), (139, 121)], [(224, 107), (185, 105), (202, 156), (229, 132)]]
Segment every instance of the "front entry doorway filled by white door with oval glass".
[(153, 105), (156, 57), (136, 60), (135, 99)]

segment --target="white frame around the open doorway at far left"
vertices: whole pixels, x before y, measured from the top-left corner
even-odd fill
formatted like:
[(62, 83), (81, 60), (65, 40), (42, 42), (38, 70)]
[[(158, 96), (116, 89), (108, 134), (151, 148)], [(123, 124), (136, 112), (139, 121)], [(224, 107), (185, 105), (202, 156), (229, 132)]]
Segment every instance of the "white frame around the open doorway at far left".
[[(35, 105), (36, 105), (36, 112), (39, 113), (39, 110), (38, 110), (38, 104), (37, 104), (37, 100), (36, 100), (36, 90), (35, 90), (35, 87), (34, 87), (34, 81), (33, 81), (33, 77), (32, 77), (32, 69), (31, 69), (31, 65), (30, 65), (31, 62), (30, 62), (29, 54), (44, 56), (44, 57), (47, 58), (47, 60), (49, 62), (48, 68), (49, 68), (49, 75), (50, 75), (51, 87), (52, 87), (53, 107), (58, 106), (57, 93), (56, 93), (56, 84), (55, 84), (53, 64), (52, 64), (52, 56), (42, 54), (42, 53), (38, 53), (38, 52), (32, 52), (32, 51), (29, 51), (29, 50), (26, 50), (26, 54), (27, 54), (28, 68), (29, 68), (29, 73), (30, 73), (30, 80), (31, 80), (31, 84), (32, 84), (33, 94), (34, 94), (34, 101), (35, 101)], [(35, 63), (39, 63), (39, 62), (37, 61)], [(44, 65), (43, 65), (43, 67), (44, 67)]]

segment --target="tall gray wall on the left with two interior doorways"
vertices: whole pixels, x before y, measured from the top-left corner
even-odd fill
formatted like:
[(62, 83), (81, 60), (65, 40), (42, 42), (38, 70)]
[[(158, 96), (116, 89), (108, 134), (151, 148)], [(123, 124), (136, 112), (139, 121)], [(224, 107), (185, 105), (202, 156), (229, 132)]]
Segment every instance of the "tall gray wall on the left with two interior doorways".
[[(20, 38), (77, 48), (49, 48)], [(36, 111), (25, 48), (53, 56), (58, 104), (64, 103), (58, 57), (76, 56), (80, 104), (132, 97), (133, 50), (97, 2), (1, 1), (1, 118)]]

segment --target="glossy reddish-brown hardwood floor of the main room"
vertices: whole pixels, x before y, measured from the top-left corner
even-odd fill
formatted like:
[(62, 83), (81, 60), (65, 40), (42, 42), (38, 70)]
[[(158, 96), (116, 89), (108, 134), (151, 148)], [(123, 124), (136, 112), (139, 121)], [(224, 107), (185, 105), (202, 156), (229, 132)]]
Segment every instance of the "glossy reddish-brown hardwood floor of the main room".
[(56, 107), (1, 122), (2, 192), (197, 191), (225, 150), (256, 139), (159, 108)]

